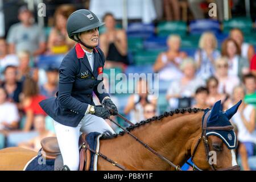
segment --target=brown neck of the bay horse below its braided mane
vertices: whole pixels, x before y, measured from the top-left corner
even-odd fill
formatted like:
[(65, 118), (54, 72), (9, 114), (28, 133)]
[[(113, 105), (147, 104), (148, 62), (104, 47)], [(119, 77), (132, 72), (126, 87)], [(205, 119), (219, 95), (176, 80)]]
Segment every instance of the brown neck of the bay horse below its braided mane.
[[(182, 165), (191, 155), (192, 143), (200, 135), (203, 112), (175, 114), (153, 121), (131, 131), (156, 152), (176, 165)], [(113, 141), (118, 148), (123, 148), (123, 163), (134, 169), (168, 170), (170, 166), (158, 156), (125, 134)], [(125, 161), (126, 160), (126, 161)]]

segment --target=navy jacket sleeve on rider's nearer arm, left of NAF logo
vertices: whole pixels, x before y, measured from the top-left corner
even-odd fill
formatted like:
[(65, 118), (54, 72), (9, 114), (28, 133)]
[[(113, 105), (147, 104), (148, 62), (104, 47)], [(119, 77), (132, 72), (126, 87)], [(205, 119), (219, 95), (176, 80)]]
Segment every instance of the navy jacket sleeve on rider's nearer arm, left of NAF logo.
[(59, 102), (63, 107), (85, 113), (89, 105), (71, 96), (73, 82), (75, 82), (77, 69), (79, 69), (75, 61), (71, 55), (67, 55), (60, 65)]

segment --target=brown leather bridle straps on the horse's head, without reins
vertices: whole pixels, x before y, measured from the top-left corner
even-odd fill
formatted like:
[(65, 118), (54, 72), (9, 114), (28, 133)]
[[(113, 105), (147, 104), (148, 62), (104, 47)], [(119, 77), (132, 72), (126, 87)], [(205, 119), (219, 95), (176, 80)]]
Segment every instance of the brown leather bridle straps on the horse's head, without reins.
[[(199, 143), (203, 140), (203, 143), (204, 143), (204, 148), (205, 148), (205, 156), (206, 156), (206, 160), (207, 162), (209, 163), (209, 142), (208, 142), (208, 138), (207, 138), (207, 130), (226, 130), (226, 131), (230, 131), (230, 130), (233, 130), (233, 126), (210, 126), (210, 127), (207, 127), (207, 119), (210, 115), (210, 111), (207, 111), (207, 113), (204, 113), (204, 116), (203, 116), (203, 123), (202, 123), (202, 134), (201, 136), (199, 137), (199, 139), (197, 140), (197, 143), (196, 143), (196, 146), (192, 152), (192, 155), (191, 155), (191, 161), (193, 163), (193, 165), (189, 164), (190, 166), (193, 167), (194, 170), (197, 170), (197, 171), (203, 171), (202, 169), (200, 169), (199, 167), (197, 167), (195, 165), (195, 163), (193, 162), (193, 157), (195, 156), (195, 153), (196, 153), (196, 150), (197, 150), (197, 147), (199, 146)], [(210, 167), (212, 168), (213, 171), (240, 171), (240, 166), (236, 165), (236, 166), (232, 166), (232, 167), (229, 167), (229, 168), (224, 168), (224, 169), (216, 169), (213, 164), (210, 164)]]

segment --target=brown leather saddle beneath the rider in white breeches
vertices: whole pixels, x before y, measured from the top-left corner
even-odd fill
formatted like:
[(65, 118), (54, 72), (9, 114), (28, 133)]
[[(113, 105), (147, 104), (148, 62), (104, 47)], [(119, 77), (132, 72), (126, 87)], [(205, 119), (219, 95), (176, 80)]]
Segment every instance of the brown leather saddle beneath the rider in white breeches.
[[(86, 142), (86, 135), (81, 134), (79, 138), (80, 148), (80, 166), (79, 171), (89, 171), (90, 168), (90, 150), (88, 149), (89, 144)], [(62, 160), (59, 144), (56, 137), (47, 137), (41, 140), (42, 155), (46, 159)], [(63, 161), (61, 161), (63, 163)], [(60, 165), (63, 166), (63, 165)]]

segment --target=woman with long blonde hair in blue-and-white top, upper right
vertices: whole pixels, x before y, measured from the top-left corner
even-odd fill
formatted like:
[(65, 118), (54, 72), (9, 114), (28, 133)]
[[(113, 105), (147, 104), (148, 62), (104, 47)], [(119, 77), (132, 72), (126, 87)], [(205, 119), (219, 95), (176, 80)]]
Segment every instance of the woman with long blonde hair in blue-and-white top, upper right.
[(199, 40), (199, 51), (195, 53), (197, 75), (207, 80), (214, 73), (214, 60), (220, 56), (217, 39), (211, 32), (204, 32)]

